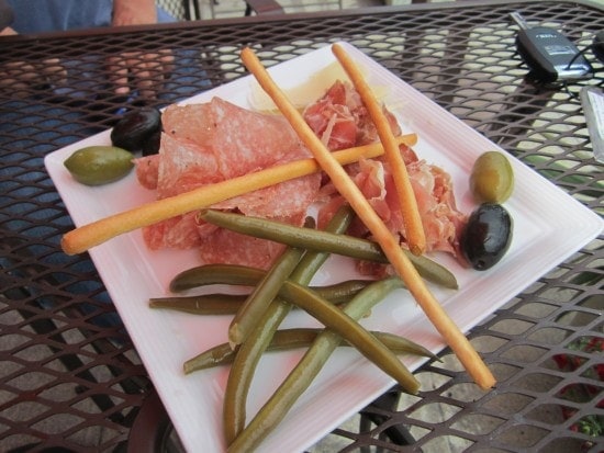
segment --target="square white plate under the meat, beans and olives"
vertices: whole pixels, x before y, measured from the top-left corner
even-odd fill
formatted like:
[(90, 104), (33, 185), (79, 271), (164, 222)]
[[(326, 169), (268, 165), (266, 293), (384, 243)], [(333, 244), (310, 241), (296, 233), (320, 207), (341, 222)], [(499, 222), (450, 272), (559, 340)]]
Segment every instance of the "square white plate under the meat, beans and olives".
[[(362, 68), (368, 82), (387, 93), (383, 100), (403, 131), (418, 135), (414, 149), (420, 158), (450, 173), (457, 205), (470, 213), (476, 207), (468, 188), (472, 163), (480, 154), (500, 148), (360, 50), (346, 43), (343, 45)], [(325, 46), (279, 64), (269, 72), (283, 89), (294, 89), (334, 61), (329, 46)], [(243, 77), (186, 102), (206, 102), (212, 97), (221, 97), (250, 107), (250, 103), (257, 102), (254, 83), (250, 76)], [(45, 160), (77, 226), (154, 199), (152, 191), (137, 184), (134, 174), (94, 188), (74, 181), (63, 162), (76, 149), (89, 145), (110, 145), (109, 131), (59, 149)], [(569, 258), (603, 227), (596, 214), (518, 160), (510, 159), (516, 186), (505, 206), (514, 219), (514, 238), (503, 260), (488, 271), (478, 272), (460, 265), (450, 256), (432, 257), (457, 276), (459, 290), (432, 290), (463, 331)], [(186, 449), (190, 452), (224, 451), (222, 400), (228, 370), (219, 367), (184, 375), (182, 363), (226, 341), (230, 318), (148, 308), (150, 297), (168, 294), (168, 284), (178, 272), (199, 264), (198, 253), (194, 250), (150, 251), (141, 231), (132, 231), (92, 248), (90, 256)], [(314, 283), (351, 276), (355, 276), (354, 264), (343, 258), (333, 258), (317, 273)], [(413, 298), (402, 290), (392, 293), (362, 324), (406, 336), (435, 352), (445, 347)], [(316, 322), (307, 315), (292, 313), (284, 327), (292, 326), (316, 326)], [(279, 352), (262, 358), (249, 394), (249, 415), (258, 410), (301, 354), (302, 351)], [(423, 363), (421, 359), (403, 360), (413, 370)], [(390, 377), (355, 350), (338, 350), (258, 451), (304, 450), (391, 385)]]

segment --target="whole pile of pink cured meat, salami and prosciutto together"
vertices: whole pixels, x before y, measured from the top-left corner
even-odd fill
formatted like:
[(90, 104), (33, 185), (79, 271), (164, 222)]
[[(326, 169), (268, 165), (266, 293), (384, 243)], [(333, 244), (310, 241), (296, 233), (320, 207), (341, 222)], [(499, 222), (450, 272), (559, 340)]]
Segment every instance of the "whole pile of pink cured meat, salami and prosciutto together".
[[(395, 117), (385, 107), (384, 112), (393, 133), (400, 134)], [(331, 149), (378, 139), (360, 97), (347, 82), (336, 82), (322, 99), (309, 105), (304, 117)], [(147, 188), (157, 189), (158, 197), (310, 156), (281, 116), (250, 112), (217, 98), (206, 104), (170, 106), (163, 121), (165, 134), (159, 155), (136, 161), (138, 180)], [(418, 201), (428, 251), (457, 253), (466, 216), (457, 211), (449, 175), (420, 160), (413, 149), (401, 146), (400, 150)], [(366, 159), (347, 166), (346, 170), (404, 244), (402, 213), (385, 160)], [(323, 203), (318, 212), (318, 226), (322, 227), (344, 200), (318, 173), (233, 197), (212, 207), (301, 225), (307, 207), (317, 200)], [(204, 263), (238, 263), (261, 269), (268, 269), (284, 248), (198, 223), (195, 214), (145, 228), (145, 241), (153, 249), (199, 247)], [(362, 237), (368, 230), (357, 220), (349, 234)], [(388, 272), (379, 264), (365, 264), (361, 271)]]

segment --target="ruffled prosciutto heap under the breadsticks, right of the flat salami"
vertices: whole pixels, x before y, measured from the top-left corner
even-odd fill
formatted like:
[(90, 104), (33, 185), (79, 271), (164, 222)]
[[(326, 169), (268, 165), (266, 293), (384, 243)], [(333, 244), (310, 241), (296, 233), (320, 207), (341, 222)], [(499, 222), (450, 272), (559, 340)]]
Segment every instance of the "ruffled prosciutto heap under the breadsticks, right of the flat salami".
[[(392, 132), (401, 128), (392, 113), (383, 112)], [(336, 82), (315, 103), (304, 111), (304, 118), (329, 149), (365, 145), (376, 141), (376, 127), (362, 105), (357, 91), (347, 82)], [(401, 146), (401, 155), (407, 167), (422, 223), (426, 234), (427, 251), (446, 251), (452, 254), (459, 250), (459, 235), (467, 216), (456, 206), (451, 180), (443, 169), (420, 160), (413, 149)], [(394, 180), (385, 160), (365, 159), (347, 167), (356, 184), (365, 194), (376, 213), (390, 230), (405, 242), (403, 217), (399, 207)], [(326, 184), (322, 194), (327, 197), (318, 215), (318, 225), (324, 226), (337, 207), (344, 203), (333, 185)], [(367, 228), (357, 223), (350, 234), (367, 236)]]

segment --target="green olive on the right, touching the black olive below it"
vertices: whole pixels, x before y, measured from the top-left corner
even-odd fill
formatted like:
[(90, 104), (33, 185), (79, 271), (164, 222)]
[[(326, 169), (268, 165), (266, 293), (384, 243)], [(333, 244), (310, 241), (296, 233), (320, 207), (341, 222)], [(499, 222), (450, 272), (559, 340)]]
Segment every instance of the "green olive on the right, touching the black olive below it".
[(470, 173), (470, 190), (479, 203), (503, 203), (514, 189), (514, 171), (500, 151), (486, 151), (476, 160)]

